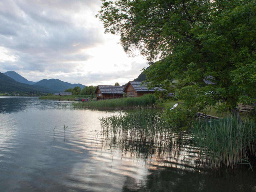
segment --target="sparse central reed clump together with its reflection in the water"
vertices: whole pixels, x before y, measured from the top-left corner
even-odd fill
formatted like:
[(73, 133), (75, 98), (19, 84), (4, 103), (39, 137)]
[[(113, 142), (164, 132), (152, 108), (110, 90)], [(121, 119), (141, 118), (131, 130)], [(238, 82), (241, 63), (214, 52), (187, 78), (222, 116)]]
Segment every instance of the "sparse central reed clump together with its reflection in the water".
[(130, 157), (154, 159), (159, 163), (167, 161), (180, 168), (200, 166), (194, 161), (197, 148), (189, 146), (191, 137), (169, 127), (161, 114), (157, 109), (140, 108), (100, 118), (102, 135), (108, 141), (106, 145), (119, 147)]

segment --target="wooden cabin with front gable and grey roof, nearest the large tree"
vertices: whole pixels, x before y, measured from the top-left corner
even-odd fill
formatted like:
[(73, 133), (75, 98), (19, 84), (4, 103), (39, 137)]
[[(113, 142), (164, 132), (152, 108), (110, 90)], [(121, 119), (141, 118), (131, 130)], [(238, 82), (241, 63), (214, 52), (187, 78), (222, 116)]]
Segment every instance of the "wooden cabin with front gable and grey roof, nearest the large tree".
[(148, 90), (147, 84), (141, 85), (142, 81), (129, 81), (126, 87), (124, 88), (124, 92), (126, 93), (126, 97), (141, 97), (144, 94), (154, 94), (155, 90), (162, 91), (161, 88), (153, 88)]

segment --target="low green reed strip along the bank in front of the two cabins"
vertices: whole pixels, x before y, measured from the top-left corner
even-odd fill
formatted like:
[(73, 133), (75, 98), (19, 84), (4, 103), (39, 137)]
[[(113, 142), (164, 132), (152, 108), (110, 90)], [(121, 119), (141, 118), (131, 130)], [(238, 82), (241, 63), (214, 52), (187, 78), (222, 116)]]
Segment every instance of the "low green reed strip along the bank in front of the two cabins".
[[(93, 108), (93, 109), (134, 109), (146, 106), (153, 106), (156, 103), (156, 97), (152, 94), (146, 94), (142, 97), (133, 98), (120, 98), (120, 99), (108, 99), (99, 100), (93, 102), (79, 102), (73, 103), (75, 108)], [(153, 106), (154, 107), (154, 106)]]

